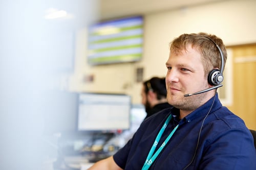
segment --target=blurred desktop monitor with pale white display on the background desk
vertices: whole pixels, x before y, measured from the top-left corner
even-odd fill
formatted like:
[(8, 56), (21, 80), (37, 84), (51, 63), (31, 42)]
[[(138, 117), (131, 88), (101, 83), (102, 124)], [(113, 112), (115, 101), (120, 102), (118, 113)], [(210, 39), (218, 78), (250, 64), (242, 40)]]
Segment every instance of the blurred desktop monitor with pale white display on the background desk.
[(78, 131), (116, 131), (130, 128), (131, 96), (80, 93)]

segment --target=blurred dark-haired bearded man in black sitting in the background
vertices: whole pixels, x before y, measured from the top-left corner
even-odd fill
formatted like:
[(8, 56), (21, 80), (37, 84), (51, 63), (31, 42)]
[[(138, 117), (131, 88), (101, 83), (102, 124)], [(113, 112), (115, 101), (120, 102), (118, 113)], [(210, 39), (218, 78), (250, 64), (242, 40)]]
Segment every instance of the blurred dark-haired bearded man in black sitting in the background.
[(142, 104), (145, 106), (146, 117), (172, 107), (166, 100), (165, 78), (153, 77), (143, 82), (141, 88)]

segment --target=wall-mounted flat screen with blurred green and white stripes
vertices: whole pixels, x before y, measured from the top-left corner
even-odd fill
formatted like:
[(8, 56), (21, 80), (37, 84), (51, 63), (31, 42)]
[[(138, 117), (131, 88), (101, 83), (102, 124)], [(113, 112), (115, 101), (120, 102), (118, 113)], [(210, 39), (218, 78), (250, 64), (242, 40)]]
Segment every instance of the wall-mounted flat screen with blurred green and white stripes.
[(89, 64), (134, 62), (142, 58), (142, 16), (99, 22), (88, 30)]

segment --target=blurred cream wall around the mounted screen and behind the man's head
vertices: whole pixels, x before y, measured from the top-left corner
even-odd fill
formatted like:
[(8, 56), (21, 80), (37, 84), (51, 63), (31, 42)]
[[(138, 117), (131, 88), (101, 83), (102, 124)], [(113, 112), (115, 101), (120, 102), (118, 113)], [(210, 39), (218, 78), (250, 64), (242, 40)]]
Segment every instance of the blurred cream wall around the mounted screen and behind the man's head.
[[(224, 1), (144, 16), (143, 59), (136, 63), (90, 67), (86, 63), (86, 29), (77, 33), (77, 60), (70, 88), (75, 91), (123, 92), (140, 103), (141, 84), (135, 70), (144, 67), (144, 79), (165, 76), (168, 44), (183, 33), (207, 32), (221, 37), (226, 45), (256, 42), (256, 1)], [(94, 82), (82, 78), (94, 75)]]

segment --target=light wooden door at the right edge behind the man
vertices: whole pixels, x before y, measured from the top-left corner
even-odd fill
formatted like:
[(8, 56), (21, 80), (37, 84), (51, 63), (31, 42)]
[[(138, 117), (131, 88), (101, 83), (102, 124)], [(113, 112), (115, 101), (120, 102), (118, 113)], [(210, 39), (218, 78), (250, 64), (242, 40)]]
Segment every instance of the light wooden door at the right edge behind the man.
[(233, 103), (228, 108), (256, 130), (256, 44), (230, 47), (232, 50)]

